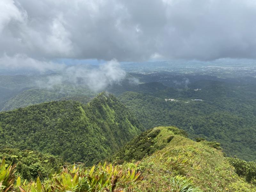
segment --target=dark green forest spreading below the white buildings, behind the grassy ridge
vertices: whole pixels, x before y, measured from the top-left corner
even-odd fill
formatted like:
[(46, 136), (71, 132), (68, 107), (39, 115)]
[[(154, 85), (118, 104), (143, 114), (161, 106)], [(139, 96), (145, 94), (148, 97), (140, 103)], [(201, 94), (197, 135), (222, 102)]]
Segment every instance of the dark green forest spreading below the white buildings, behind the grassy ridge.
[(125, 92), (119, 99), (147, 129), (171, 124), (184, 129), (191, 138), (220, 142), (229, 156), (256, 160), (254, 100), (217, 98), (196, 102), (175, 98), (179, 101), (166, 102), (164, 97), (139, 92)]

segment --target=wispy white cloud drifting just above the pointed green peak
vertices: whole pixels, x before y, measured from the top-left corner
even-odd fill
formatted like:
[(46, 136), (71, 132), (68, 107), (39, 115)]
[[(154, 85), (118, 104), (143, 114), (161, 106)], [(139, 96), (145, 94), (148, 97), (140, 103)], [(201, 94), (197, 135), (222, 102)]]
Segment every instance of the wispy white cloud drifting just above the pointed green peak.
[(71, 85), (87, 85), (93, 91), (102, 91), (107, 86), (119, 83), (126, 74), (116, 60), (108, 61), (98, 68), (71, 66), (61, 70), (57, 75), (47, 76), (37, 81), (41, 88), (54, 88), (55, 85), (68, 83)]

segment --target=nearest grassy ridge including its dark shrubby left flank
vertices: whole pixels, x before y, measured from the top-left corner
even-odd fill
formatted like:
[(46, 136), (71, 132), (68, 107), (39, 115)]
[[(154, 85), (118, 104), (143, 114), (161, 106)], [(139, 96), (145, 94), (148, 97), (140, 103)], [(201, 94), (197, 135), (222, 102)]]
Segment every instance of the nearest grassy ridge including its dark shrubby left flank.
[[(144, 178), (138, 191), (256, 191), (255, 185), (239, 177), (218, 143), (195, 142), (176, 127), (156, 127), (141, 133), (123, 146), (112, 160), (135, 166)], [(216, 147), (216, 148), (214, 148)], [(254, 170), (255, 171), (255, 170)]]

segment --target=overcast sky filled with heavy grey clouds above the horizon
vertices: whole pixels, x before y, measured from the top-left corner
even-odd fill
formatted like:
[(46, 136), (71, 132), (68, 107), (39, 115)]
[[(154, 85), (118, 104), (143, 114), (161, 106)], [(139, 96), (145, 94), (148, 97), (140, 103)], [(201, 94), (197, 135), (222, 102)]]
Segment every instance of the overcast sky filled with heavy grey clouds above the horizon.
[(255, 21), (255, 0), (1, 0), (0, 68), (255, 59)]

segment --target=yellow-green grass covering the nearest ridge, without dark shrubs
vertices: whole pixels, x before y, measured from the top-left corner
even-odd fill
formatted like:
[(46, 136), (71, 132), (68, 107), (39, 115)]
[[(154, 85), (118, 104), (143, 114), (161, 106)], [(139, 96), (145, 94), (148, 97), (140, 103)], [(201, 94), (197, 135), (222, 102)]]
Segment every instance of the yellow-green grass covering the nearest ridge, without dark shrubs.
[[(155, 130), (160, 130), (155, 143), (166, 147), (140, 160), (144, 177), (137, 184), (140, 191), (170, 191), (170, 182), (177, 177), (188, 180), (194, 191), (256, 191), (255, 185), (236, 174), (221, 150), (174, 134), (172, 127), (156, 127), (151, 132)], [(173, 139), (168, 143), (170, 136)], [(174, 187), (171, 191), (182, 190)]]

